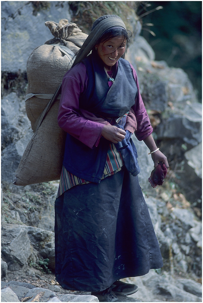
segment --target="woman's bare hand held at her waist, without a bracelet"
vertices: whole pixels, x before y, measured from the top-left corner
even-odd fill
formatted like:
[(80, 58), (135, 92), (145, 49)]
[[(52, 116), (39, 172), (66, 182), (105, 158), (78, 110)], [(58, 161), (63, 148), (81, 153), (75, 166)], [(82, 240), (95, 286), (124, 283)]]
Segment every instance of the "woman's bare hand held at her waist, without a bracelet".
[(126, 132), (122, 128), (116, 127), (109, 123), (104, 125), (101, 135), (113, 143), (118, 143), (125, 139)]

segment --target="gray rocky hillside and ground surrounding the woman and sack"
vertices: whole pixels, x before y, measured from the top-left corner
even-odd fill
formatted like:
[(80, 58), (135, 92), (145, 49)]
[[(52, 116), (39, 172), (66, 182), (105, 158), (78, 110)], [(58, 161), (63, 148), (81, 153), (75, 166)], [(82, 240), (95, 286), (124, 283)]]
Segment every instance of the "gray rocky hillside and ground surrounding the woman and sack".
[[(70, 292), (71, 298), (62, 298), (67, 291), (54, 279), (58, 181), (25, 187), (12, 184), (32, 136), (24, 101), (28, 56), (52, 38), (46, 21), (66, 18), (71, 22), (74, 17), (69, 2), (39, 3), (2, 2), (2, 294), (14, 298), (13, 291), (16, 301), (25, 301), (25, 297), (26, 301), (93, 301), (95, 297), (89, 293), (83, 294), (87, 295), (84, 298)], [(164, 267), (127, 279), (137, 283), (140, 291), (123, 300), (201, 301), (201, 105), (187, 74), (155, 61), (153, 49), (139, 35), (140, 23), (134, 12), (130, 20), (134, 37), (127, 59), (138, 73), (154, 137), (167, 155), (170, 169), (163, 186), (153, 189), (148, 182), (152, 159), (144, 143), (133, 138), (141, 167), (139, 180)]]

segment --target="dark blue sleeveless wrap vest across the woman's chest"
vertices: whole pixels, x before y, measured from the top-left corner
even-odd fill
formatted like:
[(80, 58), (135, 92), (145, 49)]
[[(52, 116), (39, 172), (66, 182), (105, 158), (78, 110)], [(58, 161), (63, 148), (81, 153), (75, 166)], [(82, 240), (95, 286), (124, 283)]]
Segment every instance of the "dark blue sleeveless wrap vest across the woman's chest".
[(103, 62), (97, 54), (83, 60), (88, 74), (88, 84), (80, 96), (80, 107), (107, 117), (123, 116), (135, 104), (137, 86), (128, 61), (120, 58), (117, 71), (112, 67), (115, 82), (109, 88)]

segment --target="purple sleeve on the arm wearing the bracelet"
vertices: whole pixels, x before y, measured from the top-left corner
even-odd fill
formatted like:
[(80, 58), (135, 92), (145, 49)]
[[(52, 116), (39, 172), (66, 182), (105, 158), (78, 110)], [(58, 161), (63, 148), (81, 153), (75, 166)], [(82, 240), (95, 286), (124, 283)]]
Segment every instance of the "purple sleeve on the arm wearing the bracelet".
[(140, 95), (139, 83), (138, 83), (136, 71), (132, 65), (131, 65), (131, 68), (133, 70), (133, 75), (135, 78), (135, 82), (137, 85), (137, 91), (138, 91), (135, 105), (131, 109), (133, 110), (135, 117), (136, 117), (136, 121), (137, 121), (137, 129), (135, 131), (135, 135), (139, 141), (142, 141), (142, 140), (146, 139), (149, 135), (151, 135), (151, 133), (153, 132), (153, 128), (150, 123), (149, 116), (147, 114), (145, 105), (143, 103), (142, 96)]

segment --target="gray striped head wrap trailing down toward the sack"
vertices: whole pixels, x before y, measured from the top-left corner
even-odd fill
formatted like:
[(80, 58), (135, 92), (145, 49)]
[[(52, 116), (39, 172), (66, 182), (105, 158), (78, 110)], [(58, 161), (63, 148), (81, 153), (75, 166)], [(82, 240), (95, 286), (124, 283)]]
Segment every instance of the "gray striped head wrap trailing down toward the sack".
[(98, 18), (92, 26), (91, 32), (82, 47), (80, 48), (75, 61), (72, 65), (76, 65), (81, 60), (83, 60), (87, 55), (91, 52), (94, 45), (97, 44), (99, 38), (103, 35), (104, 32), (109, 30), (110, 28), (123, 28), (126, 29), (126, 26), (123, 20), (116, 15), (104, 15)]

